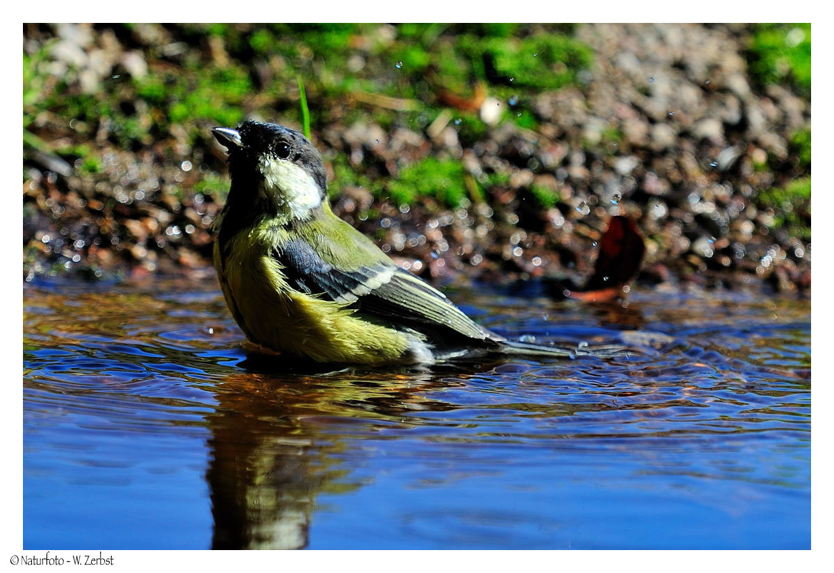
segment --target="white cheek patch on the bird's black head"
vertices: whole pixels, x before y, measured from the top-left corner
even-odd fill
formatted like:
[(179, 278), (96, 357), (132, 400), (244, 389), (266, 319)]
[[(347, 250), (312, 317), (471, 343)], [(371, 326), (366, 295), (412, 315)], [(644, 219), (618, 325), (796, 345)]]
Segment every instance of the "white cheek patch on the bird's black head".
[(303, 168), (270, 157), (261, 157), (258, 167), (264, 175), (260, 192), (264, 199), (274, 202), (279, 212), (292, 219), (306, 219), (321, 205), (319, 186)]

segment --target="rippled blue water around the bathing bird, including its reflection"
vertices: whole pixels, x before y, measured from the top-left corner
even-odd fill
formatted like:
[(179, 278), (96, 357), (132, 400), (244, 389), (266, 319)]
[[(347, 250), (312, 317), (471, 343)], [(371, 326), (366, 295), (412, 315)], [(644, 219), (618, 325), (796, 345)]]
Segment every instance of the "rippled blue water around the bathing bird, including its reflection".
[(287, 371), (211, 277), (25, 287), (24, 548), (810, 548), (808, 301), (450, 297), (632, 351)]

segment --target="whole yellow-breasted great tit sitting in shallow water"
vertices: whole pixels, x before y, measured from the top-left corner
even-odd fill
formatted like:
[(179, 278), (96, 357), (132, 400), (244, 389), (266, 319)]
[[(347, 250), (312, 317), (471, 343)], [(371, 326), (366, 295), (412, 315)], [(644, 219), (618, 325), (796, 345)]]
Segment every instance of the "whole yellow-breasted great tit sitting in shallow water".
[(232, 179), (214, 267), (250, 348), (372, 366), (591, 352), (507, 341), (397, 267), (330, 210), (321, 155), (301, 133), (254, 121), (212, 132)]

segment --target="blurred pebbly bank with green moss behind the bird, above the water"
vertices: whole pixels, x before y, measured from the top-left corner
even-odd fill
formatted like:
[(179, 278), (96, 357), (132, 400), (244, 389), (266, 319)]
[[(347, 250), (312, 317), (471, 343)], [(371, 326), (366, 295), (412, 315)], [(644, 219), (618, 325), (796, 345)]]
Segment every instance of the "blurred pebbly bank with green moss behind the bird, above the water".
[[(302, 90), (305, 97), (302, 97)], [(811, 25), (24, 24), (23, 277), (208, 273), (210, 127), (304, 128), (334, 210), (437, 280), (804, 291)]]

